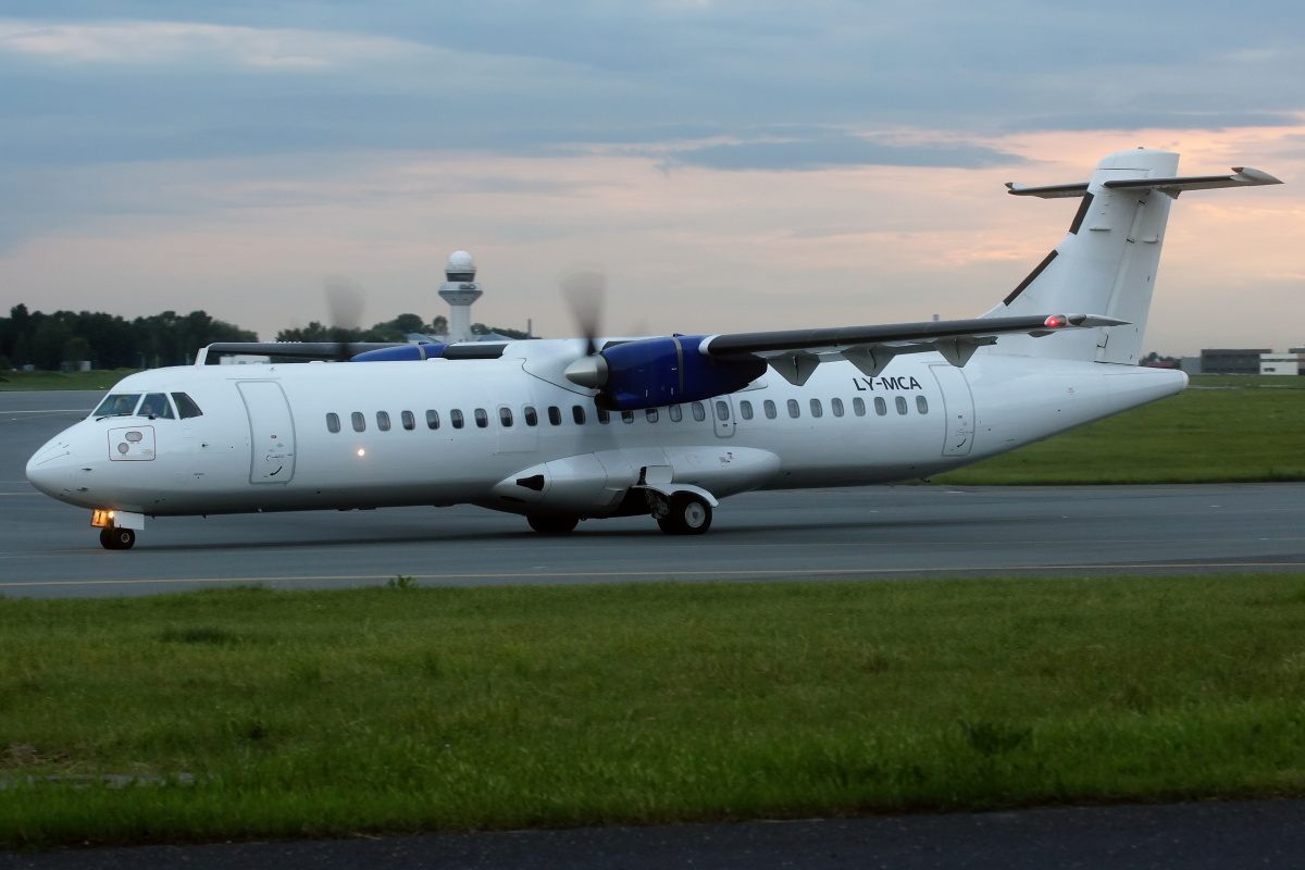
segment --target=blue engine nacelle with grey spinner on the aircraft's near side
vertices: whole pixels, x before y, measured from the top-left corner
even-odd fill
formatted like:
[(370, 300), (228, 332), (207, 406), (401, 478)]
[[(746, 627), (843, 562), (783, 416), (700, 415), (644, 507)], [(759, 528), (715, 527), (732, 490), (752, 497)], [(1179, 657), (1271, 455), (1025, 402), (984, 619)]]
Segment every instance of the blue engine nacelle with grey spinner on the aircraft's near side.
[(607, 411), (638, 411), (677, 402), (699, 402), (733, 393), (766, 373), (766, 361), (740, 355), (711, 357), (698, 352), (706, 335), (671, 335), (626, 342), (598, 356), (577, 360), (566, 377), (599, 390)]

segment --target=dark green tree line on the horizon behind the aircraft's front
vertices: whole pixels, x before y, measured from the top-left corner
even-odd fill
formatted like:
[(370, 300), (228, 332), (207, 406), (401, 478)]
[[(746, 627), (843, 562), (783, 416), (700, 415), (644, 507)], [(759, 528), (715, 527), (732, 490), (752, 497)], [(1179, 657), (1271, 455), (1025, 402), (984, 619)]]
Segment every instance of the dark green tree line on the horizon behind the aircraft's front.
[[(277, 333), (278, 342), (403, 342), (410, 333), (441, 335), (449, 331), (442, 314), (427, 323), (418, 314), (399, 314), (368, 329), (324, 326), (317, 321), (301, 329)], [(526, 338), (521, 330), (474, 323), (476, 335), (499, 333)], [(125, 320), (103, 312), (29, 312), (23, 304), (0, 317), (0, 369), (33, 365), (57, 370), (63, 364), (90, 361), (91, 368), (159, 368), (188, 365), (194, 353), (213, 342), (257, 342), (258, 335), (235, 323), (215, 320), (202, 310), (189, 314), (163, 312)]]

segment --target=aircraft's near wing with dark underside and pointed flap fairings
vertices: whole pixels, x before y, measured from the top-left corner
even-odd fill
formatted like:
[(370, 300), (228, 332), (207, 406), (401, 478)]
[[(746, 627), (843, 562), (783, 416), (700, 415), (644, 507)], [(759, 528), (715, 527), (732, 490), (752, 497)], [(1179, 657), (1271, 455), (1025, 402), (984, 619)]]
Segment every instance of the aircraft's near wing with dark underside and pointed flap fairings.
[(1041, 337), (1066, 329), (1121, 326), (1126, 322), (1092, 314), (1037, 314), (776, 333), (733, 333), (709, 335), (698, 350), (716, 357), (744, 353), (760, 356), (786, 381), (801, 386), (822, 361), (844, 359), (867, 377), (876, 377), (894, 356), (937, 351), (949, 363), (959, 367), (968, 363), (977, 348), (996, 344), (997, 337), (1004, 334), (1026, 333)]

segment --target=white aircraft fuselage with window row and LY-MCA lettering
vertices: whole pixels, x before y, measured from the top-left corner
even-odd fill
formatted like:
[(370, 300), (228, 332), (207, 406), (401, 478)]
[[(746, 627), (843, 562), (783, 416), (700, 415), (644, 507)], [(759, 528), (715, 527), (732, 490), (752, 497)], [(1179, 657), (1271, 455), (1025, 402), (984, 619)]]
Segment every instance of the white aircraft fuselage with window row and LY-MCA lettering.
[(830, 363), (803, 386), (771, 372), (701, 403), (604, 413), (590, 391), (531, 373), (572, 347), (142, 372), (112, 393), (184, 393), (202, 415), (90, 416), (27, 473), (68, 503), (151, 517), (454, 503), (606, 517), (643, 477), (724, 497), (929, 476), (1186, 385), (1128, 365), (980, 352), (962, 369), (917, 353), (873, 378)]

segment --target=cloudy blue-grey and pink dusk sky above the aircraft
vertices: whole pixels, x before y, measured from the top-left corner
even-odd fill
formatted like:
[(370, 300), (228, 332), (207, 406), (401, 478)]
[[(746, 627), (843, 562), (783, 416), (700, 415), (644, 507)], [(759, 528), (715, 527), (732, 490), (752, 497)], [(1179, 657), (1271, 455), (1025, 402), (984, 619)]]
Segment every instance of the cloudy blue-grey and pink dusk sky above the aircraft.
[(1111, 151), (1251, 166), (1176, 203), (1147, 350), (1305, 344), (1305, 7), (1268, 1), (0, 0), (0, 305), (204, 308), (271, 338), (429, 318), (568, 335), (970, 317)]

